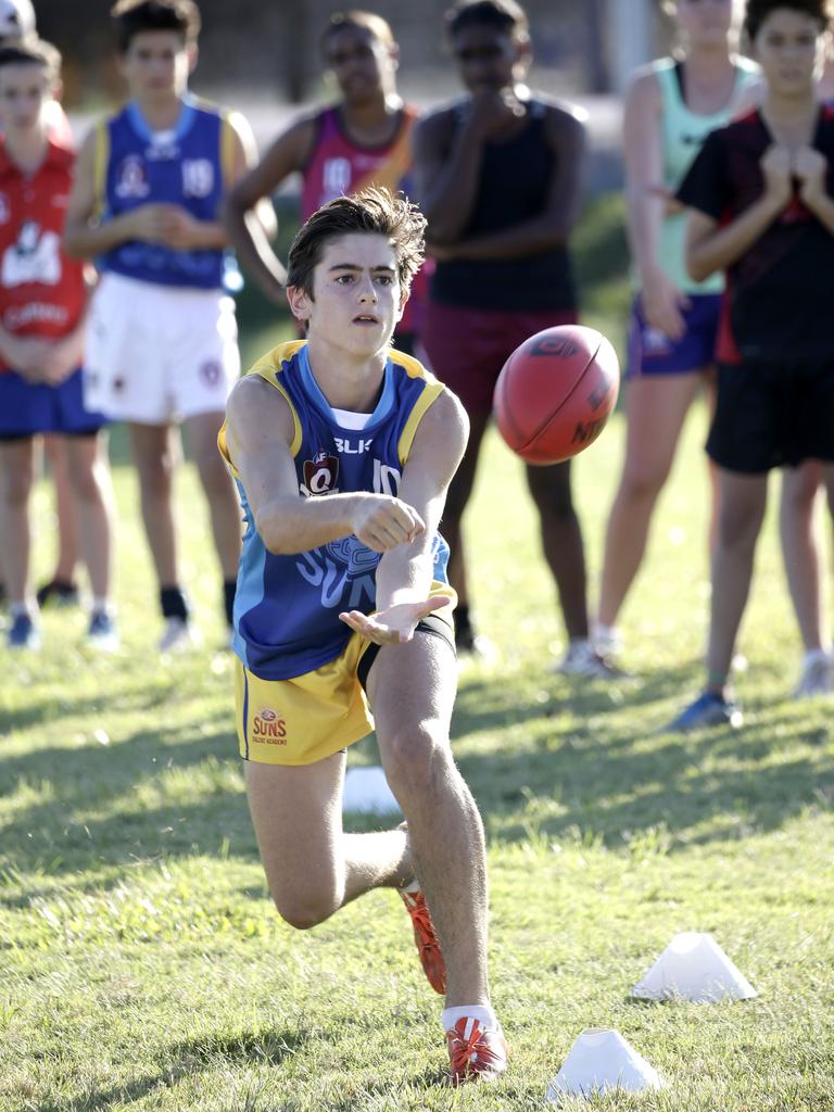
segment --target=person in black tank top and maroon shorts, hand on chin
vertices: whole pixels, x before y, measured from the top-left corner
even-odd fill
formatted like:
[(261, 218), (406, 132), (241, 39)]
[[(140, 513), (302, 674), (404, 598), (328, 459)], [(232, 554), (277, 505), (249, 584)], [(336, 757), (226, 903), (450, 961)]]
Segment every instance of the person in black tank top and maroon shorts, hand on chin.
[[(455, 636), (460, 652), (471, 652), (480, 644), (461, 518), (504, 363), (533, 332), (577, 319), (568, 237), (579, 209), (585, 129), (572, 108), (532, 95), (524, 83), (529, 27), (514, 0), (461, 0), (446, 27), (467, 93), (418, 123), (415, 163), (428, 250), (437, 259), (423, 341), (471, 423), (443, 522), (449, 579), (460, 599)], [(567, 629), (560, 668), (607, 675), (588, 638), (570, 464), (527, 467), (526, 474)]]

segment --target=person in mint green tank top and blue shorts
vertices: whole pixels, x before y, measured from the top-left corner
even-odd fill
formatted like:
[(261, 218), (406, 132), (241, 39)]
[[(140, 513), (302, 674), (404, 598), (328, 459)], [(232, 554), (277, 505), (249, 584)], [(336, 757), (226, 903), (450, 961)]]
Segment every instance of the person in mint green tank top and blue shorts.
[[(594, 629), (605, 657), (620, 649), (617, 620), (645, 556), (684, 419), (714, 375), (724, 276), (696, 282), (687, 274), (685, 215), (674, 191), (707, 135), (759, 95), (758, 67), (736, 53), (741, 6), (735, 0), (668, 0), (664, 8), (675, 20), (677, 50), (635, 75), (624, 112), (628, 235), (638, 289), (628, 335), (625, 458), (608, 518)], [(813, 465), (784, 473), (783, 553), (806, 648), (801, 694), (831, 684), (813, 532), (815, 486)], [(713, 519), (715, 513), (713, 492)]]

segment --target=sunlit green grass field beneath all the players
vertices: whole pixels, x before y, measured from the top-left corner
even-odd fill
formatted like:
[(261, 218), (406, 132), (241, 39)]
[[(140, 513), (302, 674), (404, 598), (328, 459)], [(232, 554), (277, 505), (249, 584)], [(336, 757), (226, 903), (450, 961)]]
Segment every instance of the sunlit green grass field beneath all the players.
[[(580, 232), (589, 319), (615, 336), (625, 304), (622, 271), (606, 262), (619, 257), (616, 216), (603, 205)], [(266, 342), (261, 325), (254, 315), (249, 354)], [(309, 933), (275, 914), (236, 758), (231, 661), (195, 477), (183, 470), (178, 500), (206, 647), (160, 663), (117, 434), (121, 652), (88, 655), (82, 616), (68, 610), (46, 615), (38, 657), (0, 649), (0, 1110), (542, 1109), (576, 1035), (613, 1026), (665, 1089), (590, 1106), (830, 1112), (831, 704), (788, 697), (800, 645), (773, 515), (739, 646), (747, 725), (683, 739), (659, 732), (701, 679), (703, 433), (697, 410), (624, 614), (633, 677), (616, 685), (548, 672), (563, 638), (553, 588), (519, 467), (488, 443), (468, 528), (497, 654), (461, 672), (454, 747), (488, 834), (494, 1002), (513, 1068), (457, 1093), (437, 1084), (439, 1002), (395, 895), (374, 893)], [(622, 439), (616, 416), (576, 465), (592, 584)], [(36, 518), (46, 573), (44, 486)], [(373, 739), (350, 761), (376, 763)], [(629, 1002), (685, 930), (713, 932), (758, 999)]]

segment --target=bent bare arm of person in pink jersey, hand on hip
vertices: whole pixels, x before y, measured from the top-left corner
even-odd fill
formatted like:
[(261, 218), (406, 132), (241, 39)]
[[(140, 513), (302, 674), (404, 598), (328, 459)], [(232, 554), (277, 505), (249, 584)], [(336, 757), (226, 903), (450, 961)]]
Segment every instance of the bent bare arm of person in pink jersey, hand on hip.
[(269, 245), (254, 210), (271, 197), (290, 173), (304, 169), (315, 140), (312, 118), (300, 120), (272, 143), (230, 191), (224, 207), (229, 238), (244, 269), (255, 278), (270, 300), (282, 304), (287, 271)]

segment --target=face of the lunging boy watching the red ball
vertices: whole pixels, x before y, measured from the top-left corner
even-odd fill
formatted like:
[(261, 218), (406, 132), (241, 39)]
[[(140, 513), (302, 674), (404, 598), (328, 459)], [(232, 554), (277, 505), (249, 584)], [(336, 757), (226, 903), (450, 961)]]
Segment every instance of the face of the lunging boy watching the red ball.
[(298, 288), (287, 292), (294, 315), (307, 320), (310, 339), (367, 358), (388, 346), (407, 299), (396, 251), (375, 232), (328, 240), (312, 271), (312, 297)]

